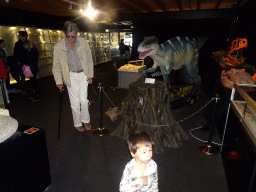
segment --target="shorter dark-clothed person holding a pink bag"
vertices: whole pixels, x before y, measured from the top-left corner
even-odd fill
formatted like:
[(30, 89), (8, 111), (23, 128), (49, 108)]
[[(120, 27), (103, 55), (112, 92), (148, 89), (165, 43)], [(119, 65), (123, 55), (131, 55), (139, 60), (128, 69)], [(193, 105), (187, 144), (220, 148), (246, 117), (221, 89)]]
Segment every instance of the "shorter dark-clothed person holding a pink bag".
[(40, 91), (40, 86), (37, 79), (37, 73), (39, 72), (39, 67), (38, 67), (39, 53), (35, 45), (31, 41), (25, 41), (23, 46), (26, 50), (25, 65), (30, 66), (30, 70), (33, 74), (33, 77), (30, 77), (30, 89), (32, 94), (29, 97), (29, 99), (31, 99), (32, 101), (39, 101), (41, 100), (41, 91)]

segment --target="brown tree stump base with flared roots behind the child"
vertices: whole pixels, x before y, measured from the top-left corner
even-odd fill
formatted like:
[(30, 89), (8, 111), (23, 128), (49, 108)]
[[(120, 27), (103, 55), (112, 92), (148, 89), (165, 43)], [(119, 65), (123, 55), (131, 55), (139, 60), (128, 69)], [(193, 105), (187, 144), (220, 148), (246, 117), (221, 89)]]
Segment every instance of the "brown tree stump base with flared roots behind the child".
[(148, 84), (140, 78), (130, 84), (123, 119), (111, 135), (126, 140), (133, 131), (145, 131), (155, 143), (155, 153), (163, 152), (164, 146), (177, 148), (188, 135), (173, 118), (169, 94), (161, 81)]

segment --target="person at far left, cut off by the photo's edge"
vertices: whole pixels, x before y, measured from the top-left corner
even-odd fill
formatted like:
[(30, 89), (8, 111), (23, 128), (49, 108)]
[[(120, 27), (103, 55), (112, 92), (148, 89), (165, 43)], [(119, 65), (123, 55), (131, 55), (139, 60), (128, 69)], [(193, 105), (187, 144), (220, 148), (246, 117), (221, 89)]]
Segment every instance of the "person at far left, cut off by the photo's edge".
[(7, 103), (10, 103), (9, 93), (8, 93), (8, 88), (10, 85), (10, 78), (9, 78), (9, 69), (7, 66), (7, 58), (6, 58), (6, 54), (4, 51), (4, 47), (5, 47), (5, 42), (3, 39), (0, 39), (0, 59), (3, 62), (3, 65), (4, 65), (3, 70), (5, 70), (5, 74), (6, 74), (5, 79), (3, 79), (3, 85), (4, 85), (4, 89), (5, 89), (5, 97), (6, 97)]

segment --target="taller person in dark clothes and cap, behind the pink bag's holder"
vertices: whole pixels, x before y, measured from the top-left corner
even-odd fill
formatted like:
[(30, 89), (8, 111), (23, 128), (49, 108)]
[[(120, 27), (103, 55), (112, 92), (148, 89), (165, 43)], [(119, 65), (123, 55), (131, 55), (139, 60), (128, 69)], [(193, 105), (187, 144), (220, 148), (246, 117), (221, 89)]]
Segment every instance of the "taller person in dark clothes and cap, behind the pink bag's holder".
[[(15, 68), (15, 73), (12, 73), (13, 78), (17, 81), (17, 92), (25, 92), (25, 76), (22, 71), (22, 65), (26, 62), (26, 50), (23, 46), (24, 42), (28, 39), (28, 34), (26, 31), (19, 31), (19, 41), (17, 41), (14, 45), (14, 53), (13, 57), (15, 60), (15, 64), (13, 64), (13, 68)], [(15, 66), (15, 67), (14, 67)]]

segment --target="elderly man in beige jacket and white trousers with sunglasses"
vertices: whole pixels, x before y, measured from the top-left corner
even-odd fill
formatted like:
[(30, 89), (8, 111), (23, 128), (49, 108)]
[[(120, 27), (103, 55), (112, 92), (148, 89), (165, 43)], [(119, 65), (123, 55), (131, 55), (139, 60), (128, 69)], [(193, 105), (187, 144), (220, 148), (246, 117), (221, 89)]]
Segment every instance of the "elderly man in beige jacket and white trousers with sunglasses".
[(87, 40), (77, 37), (78, 28), (72, 21), (64, 24), (66, 37), (54, 46), (53, 75), (62, 92), (67, 86), (74, 126), (79, 132), (91, 130), (88, 109), (88, 83), (92, 84), (94, 65)]

